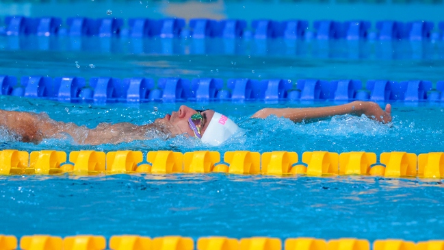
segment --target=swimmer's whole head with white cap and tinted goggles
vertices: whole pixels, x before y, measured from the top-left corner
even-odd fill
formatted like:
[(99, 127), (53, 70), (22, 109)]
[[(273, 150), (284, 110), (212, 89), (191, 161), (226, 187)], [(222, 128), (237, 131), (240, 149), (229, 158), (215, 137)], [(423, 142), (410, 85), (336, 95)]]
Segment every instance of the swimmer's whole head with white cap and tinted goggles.
[(166, 114), (164, 118), (157, 119), (155, 123), (166, 125), (173, 136), (188, 134), (200, 137), (203, 142), (212, 146), (222, 144), (239, 129), (230, 118), (214, 110), (204, 110), (200, 112), (202, 121), (200, 123), (200, 131), (198, 132), (199, 135), (196, 135), (196, 129), (193, 129), (189, 122), (194, 114), (198, 114), (198, 112), (185, 105), (181, 105), (177, 112)]

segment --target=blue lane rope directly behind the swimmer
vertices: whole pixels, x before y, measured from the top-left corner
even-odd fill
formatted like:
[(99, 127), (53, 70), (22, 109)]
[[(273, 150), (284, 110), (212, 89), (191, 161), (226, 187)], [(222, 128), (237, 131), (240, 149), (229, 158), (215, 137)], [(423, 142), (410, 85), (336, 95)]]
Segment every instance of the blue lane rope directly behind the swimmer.
[(144, 101), (279, 101), (279, 100), (371, 100), (371, 101), (444, 101), (444, 81), (388, 80), (361, 81), (344, 79), (323, 81), (300, 79), (293, 84), (284, 79), (222, 79), (133, 77), (118, 79), (93, 77), (89, 84), (83, 77), (16, 77), (0, 75), (1, 95), (53, 99), (58, 101), (144, 102)]

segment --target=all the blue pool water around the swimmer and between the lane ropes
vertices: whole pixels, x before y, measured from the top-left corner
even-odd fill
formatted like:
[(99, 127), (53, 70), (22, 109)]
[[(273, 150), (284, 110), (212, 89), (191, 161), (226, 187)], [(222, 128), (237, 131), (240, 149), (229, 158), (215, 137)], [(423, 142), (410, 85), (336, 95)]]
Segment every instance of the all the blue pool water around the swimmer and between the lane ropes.
[[(94, 3), (101, 7), (90, 8)], [(114, 10), (114, 15), (122, 8), (122, 17), (134, 17), (142, 13), (141, 10), (131, 12), (136, 8), (133, 3), (94, 3), (0, 3), (0, 15), (8, 12), (51, 16), (60, 12), (64, 18), (75, 14), (103, 17), (101, 15), (105, 15), (108, 8)], [(218, 1), (217, 4), (220, 3)], [(176, 6), (176, 10), (183, 9), (182, 13), (189, 10), (182, 8), (188, 2), (177, 4), (179, 7)], [(170, 6), (164, 8), (158, 5), (168, 4), (165, 1), (153, 4), (153, 9), (149, 9), (151, 14), (146, 16), (161, 18), (168, 16), (168, 13), (176, 13), (169, 12)], [(263, 17), (279, 20), (293, 18), (295, 13), (309, 21), (337, 17), (341, 21), (356, 18), (367, 18), (372, 22), (387, 18), (400, 21), (430, 18), (430, 21), (437, 22), (441, 21), (442, 16), (442, 4), (368, 5), (334, 2), (319, 7), (313, 3), (243, 1), (223, 5), (225, 9), (220, 11), (208, 7), (210, 5), (205, 6), (211, 10), (210, 16), (220, 12), (222, 16), (218, 18), (246, 18), (248, 21), (261, 17), (258, 15), (263, 11), (259, 10), (264, 6), (270, 6), (270, 12)], [(129, 6), (128, 9), (125, 6)], [(146, 9), (144, 5), (142, 7)], [(160, 13), (161, 10), (164, 12)], [(375, 15), (373, 10), (383, 11)], [(215, 40), (200, 41), (208, 45), (205, 48), (198, 43), (194, 44), (196, 41), (193, 40), (176, 40), (178, 46), (175, 48), (178, 50), (173, 51), (165, 50), (162, 42), (160, 47), (146, 46), (151, 45), (152, 40), (82, 38), (79, 40), (81, 46), (73, 45), (73, 41), (67, 38), (48, 44), (45, 42), (49, 40), (39, 41), (28, 37), (11, 41), (0, 37), (0, 75), (77, 76), (85, 77), (87, 82), (91, 77), (101, 76), (121, 79), (151, 77), (155, 81), (160, 77), (218, 77), (225, 82), (229, 78), (280, 78), (293, 83), (306, 78), (359, 79), (363, 83), (369, 79), (423, 79), (434, 84), (444, 80), (442, 41), (359, 42), (358, 45), (344, 41), (300, 41), (294, 46), (284, 41), (274, 41), (266, 46), (254, 45), (250, 41), (244, 49), (234, 51), (224, 50), (223, 46), (219, 46), (218, 42), (221, 41)], [(213, 51), (215, 48), (219, 50)], [(228, 140), (221, 147), (209, 147), (185, 136), (98, 146), (77, 145), (66, 136), (33, 144), (14, 141), (8, 132), (0, 129), (0, 150), (134, 150), (145, 154), (157, 150), (211, 150), (221, 154), (235, 150), (260, 153), (296, 151), (300, 157), (304, 151), (319, 150), (337, 153), (368, 151), (377, 155), (389, 151), (417, 154), (444, 151), (444, 123), (441, 122), (444, 118), (444, 103), (392, 103), (393, 122), (388, 125), (365, 116), (348, 115), (308, 124), (295, 124), (276, 116), (249, 118), (257, 110), (266, 107), (304, 108), (337, 104), (341, 103), (97, 104), (0, 96), (0, 109), (46, 112), (57, 121), (73, 122), (90, 128), (101, 122), (151, 123), (155, 118), (177, 110), (180, 105), (189, 105), (227, 114), (246, 130), (244, 135)], [(150, 237), (180, 235), (194, 239), (213, 235), (233, 238), (271, 236), (282, 239), (305, 236), (325, 239), (355, 237), (370, 241), (384, 238), (414, 241), (443, 239), (443, 187), (441, 179), (369, 176), (217, 173), (0, 176), (0, 234), (96, 234), (105, 237), (116, 234)]]

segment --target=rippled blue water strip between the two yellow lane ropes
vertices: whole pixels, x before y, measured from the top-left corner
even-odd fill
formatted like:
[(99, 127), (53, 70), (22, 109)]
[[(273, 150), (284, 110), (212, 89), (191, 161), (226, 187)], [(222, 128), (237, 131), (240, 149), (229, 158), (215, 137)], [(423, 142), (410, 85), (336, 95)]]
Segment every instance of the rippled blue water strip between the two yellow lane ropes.
[(442, 239), (441, 182), (374, 177), (0, 177), (2, 234)]

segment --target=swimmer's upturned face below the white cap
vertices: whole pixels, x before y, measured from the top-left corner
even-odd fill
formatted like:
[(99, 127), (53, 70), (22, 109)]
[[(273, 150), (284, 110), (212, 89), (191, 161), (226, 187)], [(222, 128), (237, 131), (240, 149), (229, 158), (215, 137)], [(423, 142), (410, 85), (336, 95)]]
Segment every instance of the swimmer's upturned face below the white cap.
[[(191, 129), (190, 125), (188, 125), (188, 119), (196, 113), (196, 110), (193, 110), (192, 108), (185, 105), (181, 105), (177, 112), (166, 114), (164, 118), (157, 119), (155, 123), (166, 125), (166, 127), (170, 129), (171, 133), (174, 136), (179, 134), (188, 134), (190, 136), (194, 136), (193, 129)], [(209, 121), (211, 121), (211, 118), (213, 118), (214, 110), (205, 110), (200, 114), (202, 114), (203, 116), (203, 127), (200, 130), (200, 133), (203, 135), (205, 134), (205, 130), (209, 125)]]

